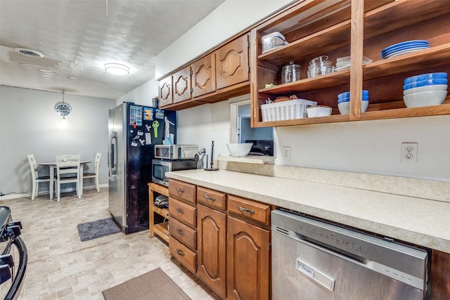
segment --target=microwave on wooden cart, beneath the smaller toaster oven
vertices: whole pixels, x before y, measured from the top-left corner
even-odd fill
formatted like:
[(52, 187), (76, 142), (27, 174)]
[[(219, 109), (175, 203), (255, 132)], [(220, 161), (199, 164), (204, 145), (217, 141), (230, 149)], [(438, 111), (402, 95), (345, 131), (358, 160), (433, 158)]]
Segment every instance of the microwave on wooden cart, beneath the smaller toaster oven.
[(152, 161), (152, 181), (165, 186), (169, 186), (169, 178), (166, 173), (170, 171), (181, 171), (197, 169), (197, 162), (194, 159), (188, 160), (162, 160), (153, 159)]

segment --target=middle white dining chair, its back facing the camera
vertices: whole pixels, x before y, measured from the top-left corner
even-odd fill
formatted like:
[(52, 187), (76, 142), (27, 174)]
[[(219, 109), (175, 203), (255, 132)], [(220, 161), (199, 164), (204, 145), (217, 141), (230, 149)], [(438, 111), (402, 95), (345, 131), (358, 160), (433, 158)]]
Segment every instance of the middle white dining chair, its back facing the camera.
[(61, 185), (63, 183), (75, 183), (77, 196), (80, 199), (79, 186), (79, 159), (81, 155), (56, 155), (56, 196), (60, 200)]

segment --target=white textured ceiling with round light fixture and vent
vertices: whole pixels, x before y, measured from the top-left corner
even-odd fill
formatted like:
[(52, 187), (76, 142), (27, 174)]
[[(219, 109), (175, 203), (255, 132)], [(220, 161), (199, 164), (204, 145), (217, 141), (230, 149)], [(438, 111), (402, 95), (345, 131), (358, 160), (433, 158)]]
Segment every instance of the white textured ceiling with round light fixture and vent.
[[(155, 56), (222, 2), (0, 0), (0, 84), (116, 99), (152, 79)], [(130, 74), (109, 74), (105, 63)]]

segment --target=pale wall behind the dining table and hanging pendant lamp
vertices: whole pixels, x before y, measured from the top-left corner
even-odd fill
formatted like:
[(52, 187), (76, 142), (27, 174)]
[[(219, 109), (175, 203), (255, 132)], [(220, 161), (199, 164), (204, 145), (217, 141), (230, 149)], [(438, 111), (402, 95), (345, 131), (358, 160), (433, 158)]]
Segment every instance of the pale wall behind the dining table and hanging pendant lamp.
[(92, 160), (88, 165), (92, 170), (96, 152), (101, 152), (99, 181), (108, 185), (108, 110), (115, 107), (115, 100), (65, 93), (65, 102), (72, 106), (65, 130), (59, 128), (62, 118), (54, 110), (62, 100), (62, 93), (0, 86), (1, 193), (31, 193), (28, 154), (34, 154), (37, 162), (54, 162), (59, 154), (80, 154)]

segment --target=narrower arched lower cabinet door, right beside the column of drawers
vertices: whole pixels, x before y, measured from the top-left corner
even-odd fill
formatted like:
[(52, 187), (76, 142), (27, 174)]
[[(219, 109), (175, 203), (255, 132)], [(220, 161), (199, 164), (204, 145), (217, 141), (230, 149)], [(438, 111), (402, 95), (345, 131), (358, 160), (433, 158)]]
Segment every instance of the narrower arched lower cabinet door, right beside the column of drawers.
[(226, 215), (198, 205), (197, 276), (221, 298), (226, 296)]

